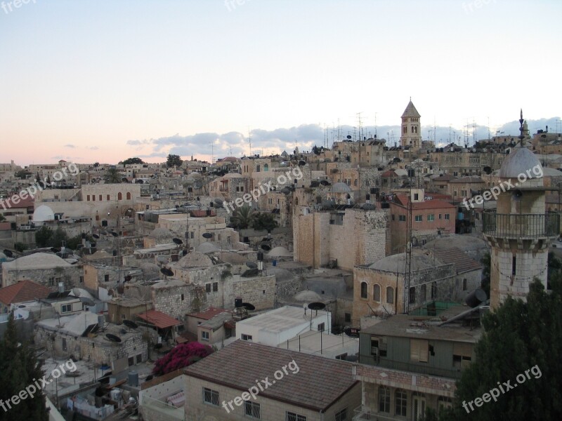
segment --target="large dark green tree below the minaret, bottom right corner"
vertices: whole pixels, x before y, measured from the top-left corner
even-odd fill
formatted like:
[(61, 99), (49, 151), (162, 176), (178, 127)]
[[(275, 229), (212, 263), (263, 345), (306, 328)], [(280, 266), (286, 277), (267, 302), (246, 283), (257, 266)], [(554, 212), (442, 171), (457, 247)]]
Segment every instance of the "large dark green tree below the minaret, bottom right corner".
[[(562, 419), (562, 278), (551, 279), (547, 293), (535, 279), (527, 302), (507, 300), (483, 318), (484, 333), (476, 345), (476, 362), (457, 382), (450, 420)], [(525, 375), (525, 370), (527, 375)], [(525, 377), (524, 381), (518, 379)], [(510, 382), (507, 389), (504, 382)], [(498, 384), (499, 383), (499, 384)], [(469, 402), (504, 385), (497, 401)]]

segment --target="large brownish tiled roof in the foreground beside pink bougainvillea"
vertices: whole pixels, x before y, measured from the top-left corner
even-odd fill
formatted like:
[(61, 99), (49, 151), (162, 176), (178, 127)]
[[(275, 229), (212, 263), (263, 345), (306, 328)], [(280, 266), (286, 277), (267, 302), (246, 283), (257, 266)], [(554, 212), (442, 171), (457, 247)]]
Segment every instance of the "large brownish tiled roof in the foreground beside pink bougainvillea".
[[(288, 374), (273, 384), (274, 373), (293, 360), (298, 372), (286, 368)], [(358, 383), (351, 368), (346, 361), (237, 340), (192, 364), (185, 374), (241, 391), (267, 377), (272, 384), (260, 396), (323, 411)]]

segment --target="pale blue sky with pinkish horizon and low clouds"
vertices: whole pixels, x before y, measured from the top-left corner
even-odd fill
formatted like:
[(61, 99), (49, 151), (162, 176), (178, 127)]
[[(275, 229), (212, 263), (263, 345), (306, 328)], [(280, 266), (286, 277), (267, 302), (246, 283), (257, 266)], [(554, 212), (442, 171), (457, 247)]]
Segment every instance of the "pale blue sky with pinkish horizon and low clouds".
[(438, 144), (518, 135), (520, 108), (562, 131), (562, 1), (24, 1), (0, 0), (3, 163), (393, 144), (410, 98)]

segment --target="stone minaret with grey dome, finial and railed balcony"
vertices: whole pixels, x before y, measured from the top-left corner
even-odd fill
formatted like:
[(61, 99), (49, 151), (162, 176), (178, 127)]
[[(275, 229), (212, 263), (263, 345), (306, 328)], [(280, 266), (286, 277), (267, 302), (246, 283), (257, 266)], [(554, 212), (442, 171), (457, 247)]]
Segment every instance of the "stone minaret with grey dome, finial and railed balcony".
[(521, 111), (519, 144), (499, 170), (499, 185), (492, 188), (497, 210), (483, 214), (483, 235), (491, 248), (492, 308), (508, 296), (525, 300), (535, 277), (547, 288), (549, 243), (560, 234), (560, 215), (545, 211), (540, 161), (523, 147), (523, 121)]

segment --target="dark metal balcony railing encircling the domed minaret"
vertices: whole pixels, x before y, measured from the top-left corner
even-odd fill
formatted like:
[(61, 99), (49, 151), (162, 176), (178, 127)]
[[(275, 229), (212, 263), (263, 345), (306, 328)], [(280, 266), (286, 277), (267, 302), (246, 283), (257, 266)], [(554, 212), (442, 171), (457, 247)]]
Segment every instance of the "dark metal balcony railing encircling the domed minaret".
[(482, 232), (505, 238), (536, 239), (560, 235), (558, 213), (483, 213)]

